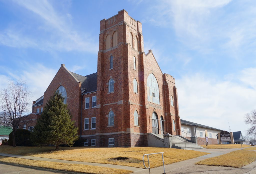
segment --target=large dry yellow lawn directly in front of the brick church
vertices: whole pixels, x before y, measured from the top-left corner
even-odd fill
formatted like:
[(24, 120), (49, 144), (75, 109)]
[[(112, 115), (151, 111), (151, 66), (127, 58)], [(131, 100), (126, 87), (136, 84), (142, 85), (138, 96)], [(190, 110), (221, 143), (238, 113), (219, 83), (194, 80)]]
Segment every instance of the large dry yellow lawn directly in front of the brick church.
[[(208, 153), (194, 150), (182, 150), (174, 148), (159, 147), (131, 147), (131, 148), (93, 148), (93, 147), (60, 147), (59, 151), (54, 151), (55, 147), (10, 147), (0, 146), (0, 153), (63, 159), (71, 161), (82, 161), (90, 163), (115, 164), (144, 168), (142, 156), (144, 154), (164, 152), (165, 164), (172, 164), (179, 161), (196, 158)], [(126, 160), (113, 160), (115, 157), (128, 157)], [(147, 161), (147, 157), (145, 157)], [(162, 166), (162, 154), (150, 156), (150, 167)]]

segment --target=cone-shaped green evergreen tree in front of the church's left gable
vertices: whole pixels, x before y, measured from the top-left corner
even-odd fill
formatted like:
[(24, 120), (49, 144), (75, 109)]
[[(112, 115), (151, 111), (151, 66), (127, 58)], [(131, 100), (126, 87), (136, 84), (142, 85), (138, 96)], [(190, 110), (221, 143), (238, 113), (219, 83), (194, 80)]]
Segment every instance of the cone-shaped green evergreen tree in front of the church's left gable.
[(64, 97), (59, 92), (55, 92), (47, 101), (31, 134), (35, 144), (40, 146), (54, 144), (55, 150), (59, 150), (59, 145), (72, 146), (78, 139), (78, 127), (74, 126), (75, 121), (71, 121), (67, 104), (64, 104), (63, 100)]

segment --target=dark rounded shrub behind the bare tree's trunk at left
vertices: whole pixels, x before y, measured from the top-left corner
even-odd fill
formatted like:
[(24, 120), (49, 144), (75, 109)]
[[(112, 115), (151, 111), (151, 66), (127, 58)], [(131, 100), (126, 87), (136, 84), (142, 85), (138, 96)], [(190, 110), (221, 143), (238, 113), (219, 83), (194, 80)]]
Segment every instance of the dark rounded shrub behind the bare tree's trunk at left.
[[(30, 139), (30, 131), (25, 129), (17, 129), (15, 133), (16, 146), (32, 146)], [(8, 145), (13, 146), (13, 132), (9, 134)]]

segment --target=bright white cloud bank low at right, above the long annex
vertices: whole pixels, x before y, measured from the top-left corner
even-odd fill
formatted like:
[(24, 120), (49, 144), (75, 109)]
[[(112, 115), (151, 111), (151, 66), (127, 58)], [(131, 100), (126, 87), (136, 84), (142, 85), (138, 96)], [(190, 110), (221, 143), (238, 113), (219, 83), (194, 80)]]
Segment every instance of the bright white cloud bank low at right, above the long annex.
[(229, 75), (232, 80), (219, 80), (198, 73), (176, 78), (179, 111), (182, 119), (223, 130), (245, 131), (244, 115), (255, 109), (256, 68), (246, 68)]

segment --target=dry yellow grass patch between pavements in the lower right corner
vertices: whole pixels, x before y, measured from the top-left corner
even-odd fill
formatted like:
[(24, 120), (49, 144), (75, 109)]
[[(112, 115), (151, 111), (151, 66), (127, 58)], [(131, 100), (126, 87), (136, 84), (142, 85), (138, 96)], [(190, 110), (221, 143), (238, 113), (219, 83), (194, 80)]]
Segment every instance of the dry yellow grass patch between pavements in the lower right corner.
[(256, 152), (237, 150), (228, 154), (208, 158), (195, 164), (207, 166), (243, 167), (256, 160)]

